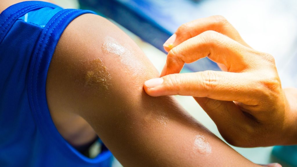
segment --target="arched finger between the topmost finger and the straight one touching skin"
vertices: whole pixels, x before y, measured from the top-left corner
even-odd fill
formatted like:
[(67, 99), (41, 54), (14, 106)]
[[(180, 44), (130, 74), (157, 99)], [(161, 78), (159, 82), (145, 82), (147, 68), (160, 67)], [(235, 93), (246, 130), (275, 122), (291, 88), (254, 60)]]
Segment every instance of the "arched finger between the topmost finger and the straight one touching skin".
[(179, 73), (184, 63), (192, 63), (204, 57), (224, 64), (229, 72), (241, 72), (256, 64), (255, 55), (257, 54), (253, 49), (225, 35), (216, 31), (205, 31), (170, 50), (161, 77)]

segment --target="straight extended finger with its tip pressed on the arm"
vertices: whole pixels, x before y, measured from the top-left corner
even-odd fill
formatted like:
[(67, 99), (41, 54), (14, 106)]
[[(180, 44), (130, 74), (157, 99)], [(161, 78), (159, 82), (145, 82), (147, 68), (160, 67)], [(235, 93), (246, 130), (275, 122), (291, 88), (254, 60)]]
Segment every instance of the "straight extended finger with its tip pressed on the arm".
[(253, 89), (251, 87), (253, 85), (249, 83), (251, 81), (248, 81), (246, 75), (242, 73), (208, 70), (150, 79), (144, 83), (144, 90), (154, 97), (183, 95), (249, 104), (250, 91)]

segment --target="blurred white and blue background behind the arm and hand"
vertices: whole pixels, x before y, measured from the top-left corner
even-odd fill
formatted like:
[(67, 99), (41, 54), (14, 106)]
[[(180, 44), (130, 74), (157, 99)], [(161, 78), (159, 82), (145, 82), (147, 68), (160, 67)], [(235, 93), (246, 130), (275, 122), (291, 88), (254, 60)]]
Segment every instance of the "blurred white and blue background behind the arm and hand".
[[(296, 0), (54, 1), (64, 8), (94, 10), (99, 15), (109, 18), (138, 44), (159, 72), (166, 61), (162, 44), (178, 26), (197, 18), (222, 15), (252, 48), (274, 56), (283, 87), (297, 87)], [(202, 59), (186, 65), (182, 72), (202, 70), (218, 70), (218, 67), (214, 62)], [(193, 117), (222, 138), (214, 122), (192, 97), (176, 98)], [(272, 154), (273, 147), (233, 148), (254, 163), (278, 162), (284, 167), (295, 166), (290, 159), (284, 158), (283, 153)], [(285, 155), (287, 156), (289, 155)], [(115, 162), (114, 166), (120, 164)]]

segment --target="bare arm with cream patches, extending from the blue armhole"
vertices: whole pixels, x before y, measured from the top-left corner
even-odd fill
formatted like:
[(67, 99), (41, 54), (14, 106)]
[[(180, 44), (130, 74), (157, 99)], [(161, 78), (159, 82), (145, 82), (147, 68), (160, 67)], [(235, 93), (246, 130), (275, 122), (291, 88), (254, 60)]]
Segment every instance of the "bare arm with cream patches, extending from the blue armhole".
[(256, 166), (172, 97), (143, 90), (154, 66), (126, 34), (91, 14), (62, 34), (50, 64), (50, 111), (82, 116), (124, 166)]

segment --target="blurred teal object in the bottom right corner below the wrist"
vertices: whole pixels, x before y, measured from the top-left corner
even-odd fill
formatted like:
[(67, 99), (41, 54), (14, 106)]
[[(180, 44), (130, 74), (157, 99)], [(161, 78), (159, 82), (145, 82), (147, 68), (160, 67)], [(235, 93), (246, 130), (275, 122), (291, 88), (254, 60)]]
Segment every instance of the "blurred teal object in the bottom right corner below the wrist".
[(297, 146), (274, 146), (272, 154), (292, 166), (297, 166)]

